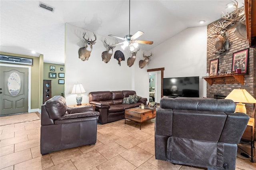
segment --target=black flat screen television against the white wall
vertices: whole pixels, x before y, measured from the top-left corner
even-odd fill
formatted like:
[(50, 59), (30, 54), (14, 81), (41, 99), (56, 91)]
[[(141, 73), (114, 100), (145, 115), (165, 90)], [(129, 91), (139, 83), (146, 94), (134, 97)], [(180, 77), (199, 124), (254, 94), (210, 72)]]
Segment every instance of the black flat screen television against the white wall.
[(199, 76), (164, 78), (163, 96), (199, 97)]

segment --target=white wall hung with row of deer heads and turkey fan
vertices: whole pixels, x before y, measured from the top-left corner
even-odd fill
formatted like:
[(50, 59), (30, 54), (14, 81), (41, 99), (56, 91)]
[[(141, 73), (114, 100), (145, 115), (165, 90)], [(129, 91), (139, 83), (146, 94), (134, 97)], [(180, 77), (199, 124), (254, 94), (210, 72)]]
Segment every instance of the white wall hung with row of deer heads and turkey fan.
[(66, 23), (65, 30), (65, 97), (68, 105), (76, 103), (76, 95), (70, 94), (74, 83), (82, 83), (87, 93), (82, 94), (82, 103), (88, 103), (88, 93), (91, 91), (118, 91), (135, 90), (137, 95), (148, 97), (148, 74), (147, 68), (139, 68), (139, 60), (143, 59), (142, 51), (138, 51), (132, 67), (127, 66), (127, 59), (132, 55), (128, 49), (122, 50), (120, 45), (114, 48), (124, 53), (125, 61), (121, 66), (112, 55), (110, 62), (104, 63), (101, 54), (106, 51), (103, 40), (113, 43), (108, 37), (96, 33), (97, 40), (92, 47), (92, 52), (87, 61), (78, 58), (78, 49), (84, 47), (82, 41), (83, 32), (86, 38), (94, 40), (93, 33)]

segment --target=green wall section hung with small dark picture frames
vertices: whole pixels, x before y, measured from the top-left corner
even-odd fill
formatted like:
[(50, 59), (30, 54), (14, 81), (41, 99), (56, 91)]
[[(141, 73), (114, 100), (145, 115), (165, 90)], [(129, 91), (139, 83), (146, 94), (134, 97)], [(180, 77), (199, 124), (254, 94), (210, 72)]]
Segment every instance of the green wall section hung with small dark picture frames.
[[(50, 71), (50, 66), (55, 66), (55, 71)], [(63, 71), (60, 68), (63, 68)], [(49, 73), (56, 73), (56, 78), (49, 78)], [(44, 63), (44, 80), (52, 80), (52, 97), (64, 92), (65, 84), (59, 84), (59, 80), (65, 80), (65, 77), (59, 77), (59, 73), (65, 73), (64, 65)]]

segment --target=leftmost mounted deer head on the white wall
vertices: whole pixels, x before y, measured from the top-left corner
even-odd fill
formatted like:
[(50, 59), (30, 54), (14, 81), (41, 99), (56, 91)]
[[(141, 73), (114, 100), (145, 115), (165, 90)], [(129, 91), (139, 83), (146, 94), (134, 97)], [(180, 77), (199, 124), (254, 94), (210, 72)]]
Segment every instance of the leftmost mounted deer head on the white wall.
[(82, 48), (80, 48), (80, 49), (78, 50), (79, 58), (80, 58), (82, 61), (89, 59), (90, 54), (91, 54), (91, 52), (92, 52), (92, 45), (96, 43), (95, 41), (96, 41), (96, 39), (97, 39), (97, 38), (96, 38), (96, 34), (93, 33), (93, 36), (94, 36), (95, 40), (92, 41), (92, 39), (91, 39), (91, 41), (89, 41), (89, 38), (86, 40), (86, 39), (84, 38), (85, 34), (86, 34), (86, 32), (84, 32), (84, 34), (83, 34), (83, 40), (84, 40), (84, 42), (86, 43), (86, 45), (85, 45), (85, 47), (82, 47)]

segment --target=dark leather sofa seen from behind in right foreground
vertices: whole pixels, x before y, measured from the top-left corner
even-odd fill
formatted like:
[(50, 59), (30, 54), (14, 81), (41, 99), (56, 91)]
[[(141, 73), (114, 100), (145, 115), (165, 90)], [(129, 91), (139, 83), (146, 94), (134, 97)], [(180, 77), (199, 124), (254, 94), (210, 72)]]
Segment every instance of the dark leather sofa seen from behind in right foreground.
[(156, 109), (156, 159), (235, 170), (237, 144), (249, 116), (228, 99), (162, 98)]

